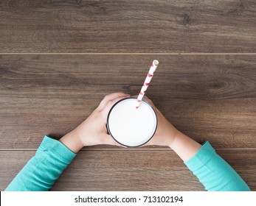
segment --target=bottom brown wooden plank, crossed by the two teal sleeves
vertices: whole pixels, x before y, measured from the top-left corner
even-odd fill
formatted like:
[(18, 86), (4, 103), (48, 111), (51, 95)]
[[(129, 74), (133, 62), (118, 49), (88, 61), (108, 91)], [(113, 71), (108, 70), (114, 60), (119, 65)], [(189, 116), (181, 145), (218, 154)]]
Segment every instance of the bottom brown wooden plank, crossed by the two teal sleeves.
[[(256, 150), (219, 150), (256, 190)], [(1, 151), (0, 190), (4, 190), (35, 152)], [(172, 151), (81, 151), (52, 191), (204, 191)]]

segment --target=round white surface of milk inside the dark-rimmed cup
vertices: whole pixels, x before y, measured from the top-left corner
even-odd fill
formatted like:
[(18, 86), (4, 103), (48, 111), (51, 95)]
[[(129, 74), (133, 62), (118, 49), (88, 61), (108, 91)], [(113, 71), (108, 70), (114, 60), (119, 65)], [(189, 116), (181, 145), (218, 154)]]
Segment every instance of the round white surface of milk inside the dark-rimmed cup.
[(119, 143), (139, 146), (152, 137), (156, 121), (156, 114), (149, 104), (142, 101), (136, 109), (136, 99), (124, 99), (111, 110), (108, 129)]

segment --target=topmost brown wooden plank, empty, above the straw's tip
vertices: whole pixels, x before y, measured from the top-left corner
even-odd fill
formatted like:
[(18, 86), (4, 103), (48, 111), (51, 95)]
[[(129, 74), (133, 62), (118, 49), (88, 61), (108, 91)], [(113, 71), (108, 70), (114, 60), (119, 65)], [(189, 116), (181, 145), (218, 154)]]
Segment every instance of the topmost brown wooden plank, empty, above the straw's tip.
[(3, 0), (0, 53), (255, 53), (255, 18), (255, 0)]

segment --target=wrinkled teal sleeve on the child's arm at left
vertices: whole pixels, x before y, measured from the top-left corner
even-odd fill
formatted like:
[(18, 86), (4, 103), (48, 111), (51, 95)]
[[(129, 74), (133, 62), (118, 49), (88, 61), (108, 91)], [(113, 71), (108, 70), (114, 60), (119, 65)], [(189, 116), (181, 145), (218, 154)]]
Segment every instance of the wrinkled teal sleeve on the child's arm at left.
[(60, 141), (45, 136), (35, 156), (5, 191), (49, 191), (75, 155)]

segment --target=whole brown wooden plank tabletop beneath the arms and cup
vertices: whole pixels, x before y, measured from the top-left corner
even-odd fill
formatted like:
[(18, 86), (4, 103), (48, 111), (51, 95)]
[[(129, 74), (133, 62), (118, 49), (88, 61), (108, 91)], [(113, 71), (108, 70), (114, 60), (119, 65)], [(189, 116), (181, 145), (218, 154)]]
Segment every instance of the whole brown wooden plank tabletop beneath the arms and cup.
[[(1, 1), (0, 190), (108, 93), (149, 96), (256, 191), (256, 2)], [(52, 191), (203, 191), (167, 147), (85, 147)]]

